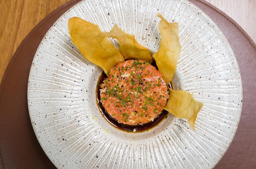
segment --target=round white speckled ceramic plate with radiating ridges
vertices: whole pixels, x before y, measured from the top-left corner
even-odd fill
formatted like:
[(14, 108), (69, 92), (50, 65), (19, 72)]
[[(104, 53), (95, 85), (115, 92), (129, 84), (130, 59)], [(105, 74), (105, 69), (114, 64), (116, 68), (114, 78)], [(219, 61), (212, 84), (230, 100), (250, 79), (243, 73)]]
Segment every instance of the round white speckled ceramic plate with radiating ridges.
[[(114, 24), (155, 53), (161, 36), (157, 13), (180, 26), (182, 52), (176, 89), (204, 103), (189, 130), (168, 115), (150, 131), (123, 132), (99, 112), (96, 84), (101, 68), (72, 44), (69, 18), (78, 16), (110, 31)], [(113, 44), (117, 44), (112, 40)], [(242, 84), (234, 53), (215, 23), (186, 0), (85, 0), (49, 29), (34, 57), (28, 82), (31, 123), (57, 168), (213, 168), (236, 132)]]

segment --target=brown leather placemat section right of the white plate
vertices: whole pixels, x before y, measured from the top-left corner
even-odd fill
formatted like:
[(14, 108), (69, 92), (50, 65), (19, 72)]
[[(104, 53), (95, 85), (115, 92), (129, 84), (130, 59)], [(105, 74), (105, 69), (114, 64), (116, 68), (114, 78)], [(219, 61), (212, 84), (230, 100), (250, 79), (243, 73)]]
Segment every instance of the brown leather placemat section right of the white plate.
[(256, 169), (256, 45), (241, 27), (215, 7), (190, 0), (202, 9), (229, 41), (238, 61), (243, 85), (243, 105), (234, 140), (215, 169)]

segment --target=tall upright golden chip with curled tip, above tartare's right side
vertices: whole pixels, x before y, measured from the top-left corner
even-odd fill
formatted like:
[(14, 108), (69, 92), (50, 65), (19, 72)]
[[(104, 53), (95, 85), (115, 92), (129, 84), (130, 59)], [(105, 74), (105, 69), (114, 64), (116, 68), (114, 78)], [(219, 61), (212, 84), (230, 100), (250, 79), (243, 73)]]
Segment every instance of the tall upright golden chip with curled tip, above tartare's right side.
[(177, 61), (181, 51), (179, 26), (176, 22), (167, 22), (160, 13), (157, 13), (157, 16), (161, 18), (158, 25), (161, 34), (161, 42), (159, 51), (155, 53), (153, 57), (159, 71), (164, 77), (164, 81), (168, 84), (171, 82), (176, 71)]

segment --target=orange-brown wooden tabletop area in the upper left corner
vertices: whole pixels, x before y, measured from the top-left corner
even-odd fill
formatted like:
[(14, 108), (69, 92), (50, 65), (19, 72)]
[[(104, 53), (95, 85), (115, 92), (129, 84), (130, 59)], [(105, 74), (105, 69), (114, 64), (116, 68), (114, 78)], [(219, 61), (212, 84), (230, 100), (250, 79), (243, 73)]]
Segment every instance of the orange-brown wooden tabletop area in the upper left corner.
[(12, 55), (45, 16), (69, 0), (0, 0), (0, 81)]

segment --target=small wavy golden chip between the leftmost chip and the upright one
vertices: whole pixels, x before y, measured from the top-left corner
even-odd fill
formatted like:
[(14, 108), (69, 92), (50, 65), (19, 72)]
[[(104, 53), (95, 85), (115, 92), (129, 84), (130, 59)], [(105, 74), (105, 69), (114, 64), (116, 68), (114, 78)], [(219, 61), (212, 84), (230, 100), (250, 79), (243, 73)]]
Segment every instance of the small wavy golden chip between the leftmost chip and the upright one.
[(122, 31), (115, 25), (110, 32), (103, 32), (107, 37), (114, 37), (119, 41), (120, 51), (125, 59), (138, 59), (152, 62), (150, 51), (148, 48), (141, 46), (134, 35), (130, 35)]

